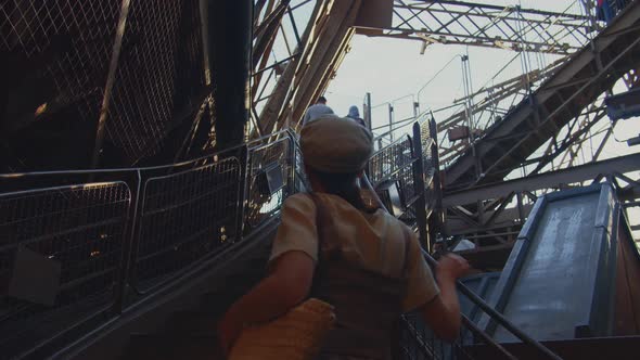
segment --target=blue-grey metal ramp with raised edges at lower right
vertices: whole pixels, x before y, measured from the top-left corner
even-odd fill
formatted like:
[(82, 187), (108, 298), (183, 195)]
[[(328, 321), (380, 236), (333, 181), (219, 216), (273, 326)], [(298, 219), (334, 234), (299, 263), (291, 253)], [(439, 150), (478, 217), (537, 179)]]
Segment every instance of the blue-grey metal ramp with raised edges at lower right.
[[(539, 340), (612, 335), (618, 207), (607, 183), (541, 197), (490, 304)], [(479, 324), (515, 340), (487, 319)]]

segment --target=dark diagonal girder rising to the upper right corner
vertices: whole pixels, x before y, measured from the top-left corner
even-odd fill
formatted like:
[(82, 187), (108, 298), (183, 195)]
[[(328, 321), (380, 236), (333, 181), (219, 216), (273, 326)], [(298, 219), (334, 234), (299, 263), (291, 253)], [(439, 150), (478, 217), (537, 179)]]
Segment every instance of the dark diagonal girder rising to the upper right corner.
[(573, 55), (527, 101), (475, 142), (481, 178), (475, 176), (476, 158), (466, 151), (447, 169), (449, 188), (501, 180), (630, 68), (637, 67), (639, 23), (640, 4), (632, 2), (593, 40), (596, 52), (585, 48)]

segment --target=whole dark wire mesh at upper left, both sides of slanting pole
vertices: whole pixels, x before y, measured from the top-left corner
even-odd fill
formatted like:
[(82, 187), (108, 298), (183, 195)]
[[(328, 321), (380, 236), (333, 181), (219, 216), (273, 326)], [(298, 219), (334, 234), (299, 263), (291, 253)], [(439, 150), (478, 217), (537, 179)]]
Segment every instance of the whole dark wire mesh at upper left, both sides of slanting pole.
[[(73, 137), (78, 144), (66, 146), (82, 150), (75, 163), (63, 158), (44, 165), (85, 166), (105, 116), (106, 139), (102, 143), (99, 137), (98, 145), (110, 157), (130, 166), (155, 155), (181, 120), (195, 116), (207, 91), (200, 5), (192, 0), (0, 2), (0, 131), (20, 139)], [(10, 147), (29, 153), (20, 142)], [(57, 152), (62, 149), (52, 153)], [(38, 154), (23, 156), (33, 163)], [(7, 165), (10, 171), (44, 167), (14, 162)]]

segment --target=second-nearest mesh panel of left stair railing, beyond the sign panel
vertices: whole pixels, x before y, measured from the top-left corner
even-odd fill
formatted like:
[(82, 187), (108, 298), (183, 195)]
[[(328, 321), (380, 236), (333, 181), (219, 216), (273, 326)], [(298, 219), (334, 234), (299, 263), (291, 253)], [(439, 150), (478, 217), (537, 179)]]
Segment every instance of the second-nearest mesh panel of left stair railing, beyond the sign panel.
[(235, 157), (146, 181), (136, 260), (141, 288), (235, 240), (242, 183)]

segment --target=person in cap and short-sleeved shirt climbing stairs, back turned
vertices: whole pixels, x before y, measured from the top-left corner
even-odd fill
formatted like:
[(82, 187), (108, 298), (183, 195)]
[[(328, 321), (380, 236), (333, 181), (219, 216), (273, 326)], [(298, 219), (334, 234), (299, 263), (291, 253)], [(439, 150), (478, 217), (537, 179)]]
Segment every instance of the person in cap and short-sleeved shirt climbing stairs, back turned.
[(300, 147), (313, 192), (284, 202), (269, 275), (222, 318), (223, 348), (243, 325), (278, 318), (309, 296), (335, 307), (322, 360), (395, 359), (397, 321), (409, 311), (419, 312), (437, 336), (458, 336), (455, 283), (469, 265), (443, 257), (436, 283), (415, 233), (363, 204), (358, 178), (372, 146), (371, 132), (351, 119), (321, 117), (303, 128)]

